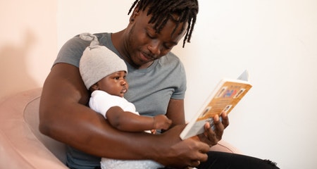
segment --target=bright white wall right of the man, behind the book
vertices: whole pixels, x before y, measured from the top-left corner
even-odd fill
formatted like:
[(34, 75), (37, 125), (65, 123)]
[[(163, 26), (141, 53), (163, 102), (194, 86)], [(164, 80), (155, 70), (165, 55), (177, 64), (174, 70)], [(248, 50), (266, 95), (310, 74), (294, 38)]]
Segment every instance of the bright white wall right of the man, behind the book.
[(281, 168), (316, 168), (317, 1), (200, 6), (192, 44), (177, 51), (187, 68), (187, 113), (221, 77), (247, 68), (254, 87), (230, 114), (224, 139)]

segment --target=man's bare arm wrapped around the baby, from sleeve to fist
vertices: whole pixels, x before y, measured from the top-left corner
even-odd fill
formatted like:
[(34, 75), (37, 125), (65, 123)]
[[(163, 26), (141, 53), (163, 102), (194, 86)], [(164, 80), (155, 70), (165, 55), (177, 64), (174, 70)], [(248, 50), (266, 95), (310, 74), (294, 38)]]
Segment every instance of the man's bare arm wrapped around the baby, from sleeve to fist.
[(151, 159), (175, 167), (206, 161), (207, 144), (181, 141), (184, 126), (160, 135), (120, 132), (87, 106), (89, 94), (78, 68), (58, 63), (44, 83), (39, 130), (88, 154), (120, 159)]

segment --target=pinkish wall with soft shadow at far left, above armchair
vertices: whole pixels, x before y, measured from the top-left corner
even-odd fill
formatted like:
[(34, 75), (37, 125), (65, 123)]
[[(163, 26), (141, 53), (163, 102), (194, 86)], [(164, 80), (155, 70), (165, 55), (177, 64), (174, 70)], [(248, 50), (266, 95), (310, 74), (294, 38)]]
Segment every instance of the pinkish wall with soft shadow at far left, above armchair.
[(0, 1), (0, 97), (42, 86), (57, 53), (56, 1)]

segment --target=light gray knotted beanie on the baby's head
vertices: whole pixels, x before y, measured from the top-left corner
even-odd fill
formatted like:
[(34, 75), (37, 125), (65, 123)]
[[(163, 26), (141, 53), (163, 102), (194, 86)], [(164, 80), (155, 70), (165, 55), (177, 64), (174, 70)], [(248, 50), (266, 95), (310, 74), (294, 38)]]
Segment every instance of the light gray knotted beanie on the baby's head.
[(111, 73), (121, 70), (128, 73), (125, 62), (106, 46), (100, 46), (96, 36), (83, 33), (80, 38), (92, 41), (83, 52), (79, 65), (80, 75), (87, 89)]

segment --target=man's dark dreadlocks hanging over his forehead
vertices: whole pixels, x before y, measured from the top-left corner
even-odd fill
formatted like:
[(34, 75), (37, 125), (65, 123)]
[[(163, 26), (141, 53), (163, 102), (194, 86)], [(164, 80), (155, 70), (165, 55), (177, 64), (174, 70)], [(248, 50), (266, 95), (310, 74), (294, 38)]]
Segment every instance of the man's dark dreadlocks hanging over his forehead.
[[(170, 19), (174, 20), (176, 23), (171, 36), (175, 33), (175, 30), (180, 23), (187, 22), (188, 26), (182, 47), (185, 46), (186, 41), (190, 42), (198, 13), (197, 0), (136, 0), (132, 4), (128, 15), (133, 8), (137, 8), (139, 11), (145, 11), (148, 8), (147, 15), (152, 15), (149, 23), (154, 23), (154, 30), (156, 30), (156, 33), (161, 32)], [(173, 14), (179, 16), (178, 20), (173, 18)], [(185, 27), (182, 25), (182, 30), (184, 29)]]

